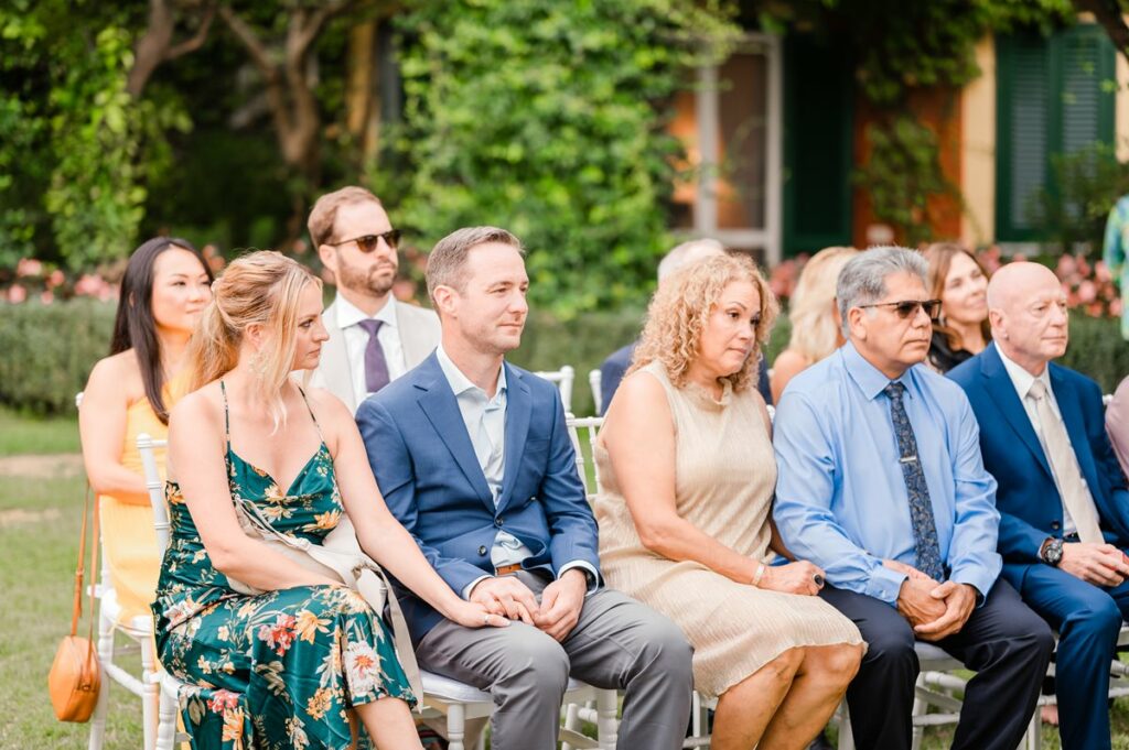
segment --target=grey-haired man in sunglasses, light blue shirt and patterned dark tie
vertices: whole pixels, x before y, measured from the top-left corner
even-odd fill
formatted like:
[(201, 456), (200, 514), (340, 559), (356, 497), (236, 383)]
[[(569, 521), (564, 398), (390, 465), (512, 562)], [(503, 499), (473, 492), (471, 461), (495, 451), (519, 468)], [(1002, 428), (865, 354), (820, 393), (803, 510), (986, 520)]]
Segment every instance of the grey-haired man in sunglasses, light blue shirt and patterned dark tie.
[(921, 364), (940, 307), (925, 279), (925, 261), (903, 248), (843, 267), (848, 343), (796, 376), (777, 407), (774, 517), (869, 645), (847, 692), (860, 749), (910, 747), (920, 638), (978, 672), (953, 748), (1010, 750), (1053, 638), (997, 581), (996, 482), (975, 417), (959, 387)]

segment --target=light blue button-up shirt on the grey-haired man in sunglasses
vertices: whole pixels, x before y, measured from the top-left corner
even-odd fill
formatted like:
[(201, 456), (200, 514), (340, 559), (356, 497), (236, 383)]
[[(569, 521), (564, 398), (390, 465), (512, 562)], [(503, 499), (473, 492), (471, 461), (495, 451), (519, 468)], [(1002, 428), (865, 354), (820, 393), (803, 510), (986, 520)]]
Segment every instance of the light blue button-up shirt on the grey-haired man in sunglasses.
[[(949, 580), (987, 595), (999, 575), (996, 480), (960, 386), (918, 364), (898, 380), (917, 440)], [(779, 479), (774, 518), (784, 542), (826, 571), (832, 585), (890, 605), (917, 565), (898, 438), (883, 392), (890, 379), (852, 344), (796, 376), (773, 425)]]

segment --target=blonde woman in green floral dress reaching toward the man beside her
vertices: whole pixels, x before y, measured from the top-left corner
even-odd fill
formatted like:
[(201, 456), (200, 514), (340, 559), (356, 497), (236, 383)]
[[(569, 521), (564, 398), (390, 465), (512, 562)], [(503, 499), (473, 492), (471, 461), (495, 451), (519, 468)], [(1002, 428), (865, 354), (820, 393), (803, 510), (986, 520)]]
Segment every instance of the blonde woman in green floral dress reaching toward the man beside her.
[[(248, 538), (234, 501), (312, 544), (348, 513), (365, 552), (446, 617), (508, 621), (435, 573), (388, 513), (352, 415), (290, 378), (317, 365), (327, 338), (321, 282), (261, 252), (213, 292), (191, 345), (194, 392), (169, 420), (173, 531), (152, 607), (161, 662), (193, 686), (182, 696), (192, 747), (339, 749), (367, 733), (380, 750), (420, 748), (382, 614)], [(228, 576), (265, 593), (240, 594)]]

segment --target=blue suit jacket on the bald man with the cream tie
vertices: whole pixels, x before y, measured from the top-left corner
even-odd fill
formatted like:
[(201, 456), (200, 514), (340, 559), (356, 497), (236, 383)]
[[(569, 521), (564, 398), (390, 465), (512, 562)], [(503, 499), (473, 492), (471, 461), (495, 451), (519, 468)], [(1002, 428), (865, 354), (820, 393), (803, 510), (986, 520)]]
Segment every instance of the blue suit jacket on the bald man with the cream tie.
[[(1106, 541), (1129, 542), (1129, 491), (1105, 434), (1102, 389), (1086, 376), (1050, 368), (1051, 388), (1082, 476), (1089, 486)], [(984, 468), (996, 477), (1004, 576), (1017, 589), (1048, 537), (1062, 536), (1062, 498), (1039, 436), (996, 345), (948, 371), (964, 388), (980, 422)]]

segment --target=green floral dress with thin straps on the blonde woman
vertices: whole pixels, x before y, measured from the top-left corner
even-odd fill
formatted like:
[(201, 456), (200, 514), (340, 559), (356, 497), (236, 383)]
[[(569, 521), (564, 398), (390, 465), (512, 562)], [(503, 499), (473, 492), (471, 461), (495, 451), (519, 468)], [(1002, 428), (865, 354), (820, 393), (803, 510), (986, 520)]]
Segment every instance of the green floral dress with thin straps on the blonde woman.
[[(224, 409), (226, 421), (226, 392)], [(239, 458), (230, 436), (226, 461), (233, 497), (255, 503), (278, 531), (321, 542), (341, 519), (324, 440), (286, 492)], [(351, 706), (388, 696), (415, 704), (388, 628), (359, 594), (330, 585), (234, 591), (175, 482), (165, 496), (172, 542), (152, 611), (161, 663), (191, 686), (181, 709), (194, 750), (349, 748)]]

